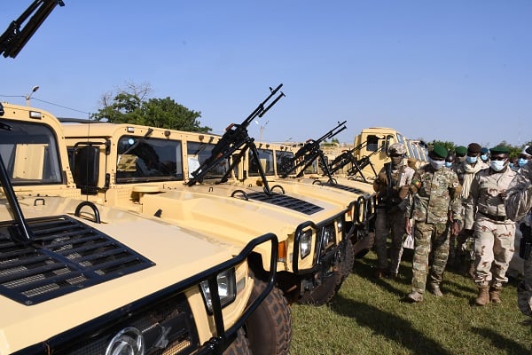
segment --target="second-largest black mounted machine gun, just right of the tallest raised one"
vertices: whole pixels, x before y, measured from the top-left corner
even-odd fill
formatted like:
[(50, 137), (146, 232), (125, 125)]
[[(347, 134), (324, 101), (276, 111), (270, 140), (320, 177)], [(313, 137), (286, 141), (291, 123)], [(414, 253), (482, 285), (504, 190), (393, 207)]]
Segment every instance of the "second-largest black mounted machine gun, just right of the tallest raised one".
[(340, 133), (342, 130), (346, 130), (346, 122), (338, 122), (338, 125), (334, 127), (332, 130), (329, 130), (327, 133), (325, 133), (322, 137), (315, 139), (309, 139), (307, 142), (301, 146), (301, 148), (293, 154), (293, 160), (294, 164), (292, 169), (286, 171), (281, 177), (287, 177), (290, 175), (294, 170), (301, 168), (298, 177), (301, 177), (305, 171), (309, 167), (312, 162), (314, 162), (317, 158), (320, 158), (320, 161), (322, 163), (323, 168), (326, 171), (326, 174), (331, 177), (331, 173), (329, 171), (329, 165), (326, 162), (324, 152), (320, 149), (320, 144), (325, 141), (325, 139), (332, 138), (336, 136), (338, 133)]

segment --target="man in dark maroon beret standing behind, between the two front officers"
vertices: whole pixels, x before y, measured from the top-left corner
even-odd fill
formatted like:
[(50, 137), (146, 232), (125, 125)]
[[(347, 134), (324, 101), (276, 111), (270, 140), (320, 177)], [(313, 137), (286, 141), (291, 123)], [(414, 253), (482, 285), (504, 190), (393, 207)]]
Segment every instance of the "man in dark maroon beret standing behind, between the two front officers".
[[(462, 202), (462, 217), (465, 220), (465, 204), (467, 197), (469, 196), (469, 190), (471, 183), (473, 182), (474, 175), (482, 169), (488, 168), (488, 164), (479, 159), (481, 155), (481, 146), (478, 143), (470, 143), (465, 148), (465, 161), (454, 167), (454, 171), (457, 173), (458, 181), (462, 185), (462, 193), (460, 199)], [(473, 225), (473, 221), (470, 221), (470, 225)], [(465, 220), (465, 225), (467, 225)], [(465, 275), (474, 279), (474, 247), (473, 247), (473, 233), (471, 230), (462, 230), (457, 236), (457, 246), (455, 254), (461, 264), (462, 272)], [(451, 245), (452, 246), (452, 245)]]

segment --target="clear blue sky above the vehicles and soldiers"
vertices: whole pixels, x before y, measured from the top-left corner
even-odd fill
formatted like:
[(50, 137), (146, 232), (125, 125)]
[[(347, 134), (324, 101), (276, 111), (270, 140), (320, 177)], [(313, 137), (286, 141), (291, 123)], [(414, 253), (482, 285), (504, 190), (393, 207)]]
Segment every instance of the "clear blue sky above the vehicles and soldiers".
[[(32, 1), (3, 0), (0, 30)], [(251, 136), (303, 141), (347, 121), (340, 142), (375, 126), (532, 140), (529, 0), (64, 1), (16, 59), (0, 57), (0, 100), (24, 105), (38, 85), (32, 106), (84, 118), (104, 93), (149, 83), (223, 133), (283, 83)]]

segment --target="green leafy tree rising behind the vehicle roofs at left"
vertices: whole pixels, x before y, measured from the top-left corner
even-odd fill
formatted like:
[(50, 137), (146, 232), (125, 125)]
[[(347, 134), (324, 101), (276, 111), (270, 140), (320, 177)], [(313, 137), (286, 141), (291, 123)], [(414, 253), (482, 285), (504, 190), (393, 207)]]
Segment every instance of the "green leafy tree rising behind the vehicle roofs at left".
[(148, 83), (127, 83), (126, 88), (116, 93), (107, 92), (100, 101), (98, 113), (92, 118), (111, 123), (134, 123), (169, 130), (209, 132), (212, 129), (200, 126), (199, 111), (192, 111), (173, 99), (146, 99), (152, 91)]

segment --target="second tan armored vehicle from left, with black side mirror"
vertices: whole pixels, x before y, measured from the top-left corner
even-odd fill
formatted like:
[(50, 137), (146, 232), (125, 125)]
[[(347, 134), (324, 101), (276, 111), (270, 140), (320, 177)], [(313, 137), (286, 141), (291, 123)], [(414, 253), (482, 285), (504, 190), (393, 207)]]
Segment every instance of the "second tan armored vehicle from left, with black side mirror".
[[(201, 184), (186, 185), (211, 157), (219, 136), (129, 124), (63, 127), (74, 178), (90, 201), (210, 230), (238, 245), (245, 245), (250, 233), (270, 231), (279, 239), (278, 288), (289, 302), (324, 304), (335, 294), (343, 262), (336, 241), (345, 207), (280, 193), (270, 198), (262, 187), (215, 184), (217, 177), (232, 174), (226, 159), (207, 170)], [(262, 259), (269, 257), (265, 251)]]

